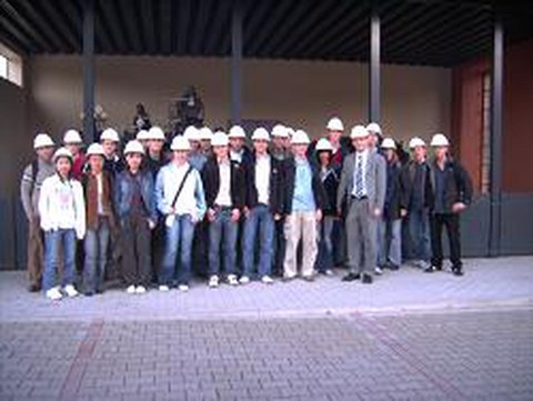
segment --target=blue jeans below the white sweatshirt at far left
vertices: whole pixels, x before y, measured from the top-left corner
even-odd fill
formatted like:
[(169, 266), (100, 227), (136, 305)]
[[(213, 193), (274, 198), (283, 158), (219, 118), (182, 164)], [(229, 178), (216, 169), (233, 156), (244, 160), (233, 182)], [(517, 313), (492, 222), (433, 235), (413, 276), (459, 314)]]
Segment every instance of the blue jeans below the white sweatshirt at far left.
[(57, 285), (59, 243), (62, 245), (64, 263), (61, 285), (64, 287), (74, 284), (76, 231), (73, 229), (47, 231), (44, 233), (44, 273), (42, 274), (42, 289), (44, 291), (48, 291)]

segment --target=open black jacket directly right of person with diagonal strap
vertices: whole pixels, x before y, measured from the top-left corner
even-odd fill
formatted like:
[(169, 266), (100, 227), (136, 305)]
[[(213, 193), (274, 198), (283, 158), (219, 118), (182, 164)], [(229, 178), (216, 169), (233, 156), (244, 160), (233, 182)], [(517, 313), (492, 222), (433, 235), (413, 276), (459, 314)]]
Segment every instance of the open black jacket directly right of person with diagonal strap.
[[(231, 202), (232, 208), (244, 208), (247, 200), (247, 173), (242, 164), (230, 161), (231, 166)], [(208, 208), (215, 207), (214, 200), (219, 193), (220, 173), (217, 158), (211, 156), (201, 172), (203, 190), (205, 192), (205, 203)]]

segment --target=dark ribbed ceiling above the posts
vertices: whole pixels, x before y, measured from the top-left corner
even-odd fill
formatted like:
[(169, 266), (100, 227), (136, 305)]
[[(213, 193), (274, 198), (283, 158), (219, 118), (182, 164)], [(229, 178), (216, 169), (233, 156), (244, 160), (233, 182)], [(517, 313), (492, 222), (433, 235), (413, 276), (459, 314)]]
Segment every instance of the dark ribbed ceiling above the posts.
[[(100, 54), (227, 57), (234, 0), (94, 0)], [(365, 61), (371, 1), (242, 0), (245, 58)], [(495, 10), (507, 42), (533, 37), (529, 1), (381, 0), (382, 61), (456, 66), (489, 53)], [(83, 0), (0, 0), (0, 41), (80, 53)]]

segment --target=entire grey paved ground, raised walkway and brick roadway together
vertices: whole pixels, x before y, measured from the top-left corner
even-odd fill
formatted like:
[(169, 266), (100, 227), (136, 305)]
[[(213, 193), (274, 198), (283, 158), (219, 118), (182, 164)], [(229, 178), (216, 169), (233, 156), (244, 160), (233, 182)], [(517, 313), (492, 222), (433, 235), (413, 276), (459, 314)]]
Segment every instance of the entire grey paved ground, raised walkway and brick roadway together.
[(533, 258), (467, 267), (61, 302), (0, 273), (0, 400), (532, 400)]

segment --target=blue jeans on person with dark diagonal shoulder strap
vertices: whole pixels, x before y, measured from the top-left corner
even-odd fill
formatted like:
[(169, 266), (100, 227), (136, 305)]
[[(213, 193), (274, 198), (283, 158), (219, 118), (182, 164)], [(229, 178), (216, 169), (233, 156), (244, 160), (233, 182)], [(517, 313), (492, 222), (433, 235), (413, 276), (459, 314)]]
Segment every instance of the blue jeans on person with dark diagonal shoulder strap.
[(178, 273), (178, 283), (188, 284), (191, 278), (191, 248), (194, 237), (194, 223), (189, 214), (174, 215), (172, 225), (164, 225), (167, 231), (165, 248), (161, 272), (160, 285), (171, 285), (174, 281), (175, 258), (180, 250), (181, 269)]

